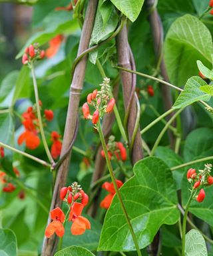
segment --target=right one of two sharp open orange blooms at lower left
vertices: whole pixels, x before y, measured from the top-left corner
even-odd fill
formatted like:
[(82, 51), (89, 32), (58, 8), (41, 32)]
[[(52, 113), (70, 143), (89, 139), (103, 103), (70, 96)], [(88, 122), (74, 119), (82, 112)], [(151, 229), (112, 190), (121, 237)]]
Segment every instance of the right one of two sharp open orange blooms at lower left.
[(84, 205), (82, 203), (73, 203), (71, 206), (69, 221), (73, 221), (73, 225), (71, 226), (71, 233), (73, 235), (83, 235), (86, 229), (91, 229), (89, 220), (81, 216), (83, 208)]

